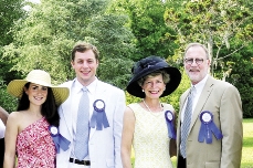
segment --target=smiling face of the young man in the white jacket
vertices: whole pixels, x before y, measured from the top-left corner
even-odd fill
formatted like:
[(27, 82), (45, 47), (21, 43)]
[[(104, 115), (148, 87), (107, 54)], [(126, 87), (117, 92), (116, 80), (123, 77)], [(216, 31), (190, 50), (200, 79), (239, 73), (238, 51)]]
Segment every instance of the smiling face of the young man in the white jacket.
[(71, 64), (75, 70), (78, 82), (84, 86), (87, 86), (96, 78), (95, 75), (98, 66), (98, 60), (95, 59), (95, 54), (92, 50), (76, 52)]

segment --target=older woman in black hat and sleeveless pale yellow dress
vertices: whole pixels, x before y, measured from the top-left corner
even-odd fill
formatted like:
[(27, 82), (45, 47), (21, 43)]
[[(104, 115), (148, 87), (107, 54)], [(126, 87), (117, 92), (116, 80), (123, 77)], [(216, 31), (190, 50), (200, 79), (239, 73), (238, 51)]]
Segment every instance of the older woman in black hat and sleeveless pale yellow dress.
[(169, 66), (158, 56), (140, 60), (133, 67), (133, 78), (127, 92), (143, 98), (127, 106), (122, 136), (124, 168), (130, 168), (131, 145), (135, 168), (172, 168), (169, 141), (176, 138), (172, 105), (160, 103), (160, 97), (171, 94), (181, 81), (178, 69)]

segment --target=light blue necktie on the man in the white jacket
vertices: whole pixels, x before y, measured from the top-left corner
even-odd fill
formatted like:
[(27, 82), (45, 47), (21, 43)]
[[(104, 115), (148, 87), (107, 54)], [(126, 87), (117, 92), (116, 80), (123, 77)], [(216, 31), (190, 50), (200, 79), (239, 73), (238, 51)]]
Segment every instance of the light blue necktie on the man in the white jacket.
[(75, 134), (75, 157), (83, 160), (88, 155), (88, 136), (89, 136), (89, 101), (87, 88), (83, 87), (83, 95), (80, 99), (76, 134)]

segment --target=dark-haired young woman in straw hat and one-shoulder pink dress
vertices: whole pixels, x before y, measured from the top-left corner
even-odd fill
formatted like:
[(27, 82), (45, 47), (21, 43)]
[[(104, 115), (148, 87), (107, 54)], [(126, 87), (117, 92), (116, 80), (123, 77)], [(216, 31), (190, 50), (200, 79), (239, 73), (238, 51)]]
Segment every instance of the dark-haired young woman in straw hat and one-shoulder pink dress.
[[(20, 98), (18, 111), (7, 120), (4, 168), (55, 168), (57, 106), (68, 96), (68, 88), (51, 85), (50, 74), (31, 71), (25, 80), (13, 80), (8, 92)], [(15, 156), (18, 160), (15, 161)]]

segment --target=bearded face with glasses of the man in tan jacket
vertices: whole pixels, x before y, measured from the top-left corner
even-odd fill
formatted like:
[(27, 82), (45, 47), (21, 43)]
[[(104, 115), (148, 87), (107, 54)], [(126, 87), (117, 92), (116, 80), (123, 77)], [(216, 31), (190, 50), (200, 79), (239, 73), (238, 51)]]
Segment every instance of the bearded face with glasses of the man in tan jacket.
[(200, 45), (190, 46), (185, 54), (185, 70), (194, 85), (205, 77), (210, 67), (207, 52)]

